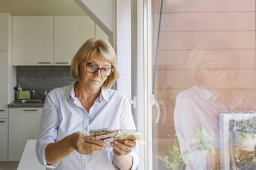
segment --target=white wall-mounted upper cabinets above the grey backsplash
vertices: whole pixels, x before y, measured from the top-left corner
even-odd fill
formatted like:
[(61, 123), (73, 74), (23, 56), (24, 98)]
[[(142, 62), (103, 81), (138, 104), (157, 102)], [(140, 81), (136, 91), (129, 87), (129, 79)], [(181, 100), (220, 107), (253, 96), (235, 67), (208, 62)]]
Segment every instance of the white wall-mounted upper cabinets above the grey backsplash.
[(12, 65), (70, 65), (89, 38), (109, 40), (89, 16), (13, 16)]

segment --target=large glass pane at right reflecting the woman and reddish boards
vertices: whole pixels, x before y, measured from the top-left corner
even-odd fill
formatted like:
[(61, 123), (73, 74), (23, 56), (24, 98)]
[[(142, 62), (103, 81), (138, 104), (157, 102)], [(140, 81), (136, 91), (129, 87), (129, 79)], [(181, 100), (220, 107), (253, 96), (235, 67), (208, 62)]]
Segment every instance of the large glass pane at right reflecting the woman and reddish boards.
[(255, 0), (162, 7), (159, 29), (152, 1), (153, 169), (256, 169)]

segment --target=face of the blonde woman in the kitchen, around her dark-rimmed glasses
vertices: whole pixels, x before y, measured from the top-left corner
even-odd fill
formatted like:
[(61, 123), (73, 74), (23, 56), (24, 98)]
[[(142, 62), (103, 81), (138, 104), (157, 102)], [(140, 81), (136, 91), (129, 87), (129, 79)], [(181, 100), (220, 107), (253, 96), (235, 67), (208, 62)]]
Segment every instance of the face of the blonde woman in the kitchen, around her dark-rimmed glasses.
[[(95, 64), (100, 68), (111, 68), (110, 62), (107, 62), (106, 60), (101, 60), (98, 55), (92, 56), (91, 58), (86, 60), (86, 62)], [(105, 80), (107, 80), (107, 77), (104, 77), (100, 74), (100, 69), (98, 69), (98, 71), (96, 71), (95, 73), (89, 73), (86, 69), (86, 64), (84, 62), (81, 62), (81, 64), (79, 65), (79, 72), (81, 74), (80, 82), (89, 90), (99, 90)]]

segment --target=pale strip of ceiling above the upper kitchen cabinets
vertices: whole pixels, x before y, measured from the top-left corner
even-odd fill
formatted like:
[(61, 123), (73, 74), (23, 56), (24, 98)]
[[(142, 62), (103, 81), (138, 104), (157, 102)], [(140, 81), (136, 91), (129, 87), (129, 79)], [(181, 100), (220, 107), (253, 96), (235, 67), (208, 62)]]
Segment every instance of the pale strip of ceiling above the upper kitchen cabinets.
[(74, 0), (0, 0), (0, 12), (12, 16), (80, 16), (87, 15)]

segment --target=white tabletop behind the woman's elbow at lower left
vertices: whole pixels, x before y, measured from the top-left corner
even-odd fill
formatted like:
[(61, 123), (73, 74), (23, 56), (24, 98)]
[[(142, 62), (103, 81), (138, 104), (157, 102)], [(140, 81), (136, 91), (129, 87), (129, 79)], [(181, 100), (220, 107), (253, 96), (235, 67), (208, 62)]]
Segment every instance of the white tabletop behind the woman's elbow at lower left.
[(19, 161), (19, 167), (17, 170), (45, 170), (46, 168), (39, 163), (36, 157), (36, 140), (28, 140), (23, 154), (21, 156), (21, 160)]

